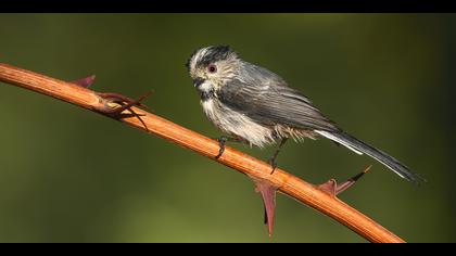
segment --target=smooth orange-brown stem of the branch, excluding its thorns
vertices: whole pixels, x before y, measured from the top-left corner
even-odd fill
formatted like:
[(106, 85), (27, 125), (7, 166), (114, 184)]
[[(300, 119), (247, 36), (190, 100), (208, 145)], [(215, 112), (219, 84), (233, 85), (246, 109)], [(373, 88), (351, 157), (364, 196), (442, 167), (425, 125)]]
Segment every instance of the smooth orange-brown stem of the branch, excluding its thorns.
[[(100, 114), (103, 113), (98, 110), (104, 110), (106, 105), (105, 100), (98, 97), (92, 90), (8, 64), (0, 63), (0, 81), (50, 95)], [(255, 179), (265, 179), (277, 187), (280, 192), (335, 219), (371, 242), (404, 242), (372, 219), (319, 190), (316, 185), (279, 168), (275, 170), (274, 175), (270, 175), (269, 164), (228, 146), (224, 154), (215, 159), (219, 150), (217, 141), (138, 107), (132, 106), (131, 110), (141, 115), (147, 128), (136, 116), (125, 117), (119, 121), (190, 149)]]

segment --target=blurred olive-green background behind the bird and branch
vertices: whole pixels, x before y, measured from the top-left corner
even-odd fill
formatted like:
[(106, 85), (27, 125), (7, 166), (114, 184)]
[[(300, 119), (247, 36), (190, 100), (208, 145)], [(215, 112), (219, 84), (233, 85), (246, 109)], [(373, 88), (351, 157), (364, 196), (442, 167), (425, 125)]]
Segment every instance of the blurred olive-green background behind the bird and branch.
[[(408, 242), (456, 242), (456, 15), (0, 14), (0, 62), (147, 100), (210, 137), (185, 63), (230, 44), (422, 174), (413, 185), (328, 140), (279, 166), (314, 183), (373, 164), (340, 197)], [(365, 242), (282, 194), (268, 238), (246, 177), (74, 105), (0, 85), (1, 242)], [(274, 149), (235, 148), (266, 158)]]

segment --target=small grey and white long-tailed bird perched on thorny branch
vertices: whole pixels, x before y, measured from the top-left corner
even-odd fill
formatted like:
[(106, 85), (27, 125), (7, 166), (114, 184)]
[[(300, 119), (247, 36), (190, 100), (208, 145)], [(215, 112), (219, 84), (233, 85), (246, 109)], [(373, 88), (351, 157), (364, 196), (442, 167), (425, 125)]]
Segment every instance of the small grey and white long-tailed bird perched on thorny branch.
[(346, 133), (280, 76), (243, 61), (228, 46), (198, 49), (186, 66), (205, 115), (229, 136), (218, 139), (216, 158), (224, 153), (227, 141), (259, 148), (280, 141), (269, 158), (274, 172), (276, 157), (289, 138), (302, 141), (324, 137), (359, 155), (369, 155), (406, 180), (425, 181), (394, 157)]

